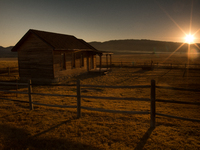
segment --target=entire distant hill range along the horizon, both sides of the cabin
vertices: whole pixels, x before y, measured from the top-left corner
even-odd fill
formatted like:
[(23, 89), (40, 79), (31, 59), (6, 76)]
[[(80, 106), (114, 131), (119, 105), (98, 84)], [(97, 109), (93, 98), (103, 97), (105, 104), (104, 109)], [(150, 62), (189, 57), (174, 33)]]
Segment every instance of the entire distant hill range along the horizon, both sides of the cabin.
[[(153, 41), (153, 40), (111, 40), (105, 42), (90, 42), (90, 45), (98, 50), (110, 51), (114, 54), (128, 54), (128, 53), (157, 53), (157, 52), (173, 52), (182, 43)], [(200, 44), (197, 44), (200, 47)], [(0, 46), (0, 57), (17, 57), (17, 52), (11, 52), (13, 46), (2, 47)], [(195, 48), (198, 52), (199, 49), (191, 44), (191, 49)], [(188, 44), (183, 45), (178, 52), (187, 52)]]

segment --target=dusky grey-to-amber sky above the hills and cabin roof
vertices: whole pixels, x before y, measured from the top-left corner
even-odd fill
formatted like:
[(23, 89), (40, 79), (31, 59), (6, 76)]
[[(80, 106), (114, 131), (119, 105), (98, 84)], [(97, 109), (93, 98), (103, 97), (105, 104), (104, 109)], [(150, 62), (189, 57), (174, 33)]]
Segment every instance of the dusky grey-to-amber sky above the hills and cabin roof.
[(150, 39), (200, 43), (199, 0), (0, 0), (0, 46), (29, 29), (74, 35), (86, 42)]

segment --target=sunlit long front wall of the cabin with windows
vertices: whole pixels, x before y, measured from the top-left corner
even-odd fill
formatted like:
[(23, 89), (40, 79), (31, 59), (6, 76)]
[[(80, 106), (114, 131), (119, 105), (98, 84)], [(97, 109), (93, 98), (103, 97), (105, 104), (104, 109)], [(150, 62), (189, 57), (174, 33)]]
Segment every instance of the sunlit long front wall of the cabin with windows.
[[(93, 69), (96, 68), (96, 55), (88, 52), (54, 51), (53, 68), (55, 79), (62, 80), (91, 70), (91, 58), (93, 55)], [(89, 62), (88, 62), (89, 61)], [(89, 64), (89, 69), (88, 69)]]

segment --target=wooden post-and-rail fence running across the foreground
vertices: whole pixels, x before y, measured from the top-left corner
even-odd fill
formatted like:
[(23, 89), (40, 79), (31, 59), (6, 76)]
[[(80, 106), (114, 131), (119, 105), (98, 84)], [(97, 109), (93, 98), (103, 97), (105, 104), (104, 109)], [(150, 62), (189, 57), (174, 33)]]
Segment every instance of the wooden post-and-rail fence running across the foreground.
[[(167, 114), (161, 114), (156, 113), (156, 102), (165, 102), (165, 103), (177, 103), (177, 104), (190, 104), (190, 105), (200, 105), (199, 102), (184, 102), (184, 101), (174, 101), (174, 100), (161, 100), (156, 99), (156, 88), (160, 89), (172, 89), (172, 90), (181, 90), (181, 91), (193, 91), (193, 92), (200, 92), (199, 89), (184, 89), (184, 88), (174, 88), (174, 87), (166, 87), (166, 86), (156, 86), (155, 80), (151, 80), (151, 85), (142, 85), (142, 86), (102, 86), (102, 85), (81, 85), (80, 80), (77, 80), (77, 84), (71, 84), (71, 85), (65, 85), (65, 84), (54, 84), (51, 86), (76, 86), (77, 87), (77, 94), (76, 95), (60, 95), (60, 94), (45, 94), (45, 93), (33, 93), (32, 92), (32, 84), (31, 80), (29, 80), (28, 83), (8, 83), (8, 82), (0, 82), (0, 85), (23, 85), (27, 86), (28, 92), (21, 92), (21, 91), (9, 91), (9, 90), (2, 90), (3, 92), (9, 92), (9, 93), (19, 93), (19, 94), (28, 94), (29, 101), (21, 101), (21, 100), (13, 100), (13, 99), (7, 99), (7, 98), (1, 98), (2, 100), (10, 100), (10, 101), (16, 101), (16, 102), (22, 102), (22, 103), (29, 103), (30, 110), (33, 110), (33, 105), (42, 105), (42, 106), (49, 106), (49, 107), (60, 107), (60, 108), (77, 108), (77, 118), (81, 117), (81, 110), (91, 110), (91, 111), (99, 111), (99, 112), (108, 112), (108, 113), (128, 113), (128, 114), (150, 114), (150, 127), (155, 127), (156, 122), (156, 115), (158, 116), (164, 116), (164, 117), (170, 117), (170, 118), (176, 118), (181, 120), (188, 120), (188, 121), (196, 121), (200, 122), (200, 120), (197, 119), (190, 119), (190, 118), (184, 118), (184, 117), (178, 117), (178, 116), (171, 116)], [(50, 86), (50, 85), (48, 85)], [(150, 88), (151, 89), (151, 95), (150, 98), (135, 98), (135, 97), (129, 97), (129, 98), (120, 98), (120, 97), (98, 97), (98, 96), (85, 96), (81, 95), (81, 87), (102, 87), (102, 88)], [(32, 95), (43, 95), (43, 96), (64, 96), (64, 97), (77, 97), (77, 105), (51, 105), (51, 104), (42, 104), (38, 102), (34, 102), (32, 100)], [(108, 109), (100, 109), (100, 108), (92, 108), (92, 107), (85, 107), (81, 105), (81, 98), (92, 98), (92, 99), (105, 99), (105, 100), (129, 100), (129, 101), (147, 101), (150, 102), (150, 112), (149, 111), (119, 111), (119, 110), (108, 110)]]

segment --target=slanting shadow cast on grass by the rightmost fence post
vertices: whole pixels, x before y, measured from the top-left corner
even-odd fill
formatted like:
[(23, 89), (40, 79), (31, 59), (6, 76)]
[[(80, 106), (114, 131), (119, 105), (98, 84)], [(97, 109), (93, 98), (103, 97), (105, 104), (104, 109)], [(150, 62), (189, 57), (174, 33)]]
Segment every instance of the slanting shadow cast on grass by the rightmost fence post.
[(134, 150), (142, 150), (144, 148), (144, 145), (146, 144), (147, 140), (149, 139), (154, 129), (155, 128), (149, 128), (147, 130), (147, 132), (143, 135), (143, 137), (141, 138), (140, 142), (137, 144)]

